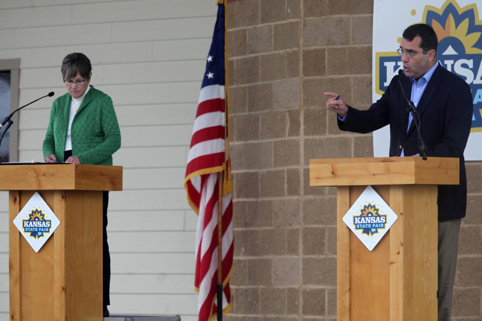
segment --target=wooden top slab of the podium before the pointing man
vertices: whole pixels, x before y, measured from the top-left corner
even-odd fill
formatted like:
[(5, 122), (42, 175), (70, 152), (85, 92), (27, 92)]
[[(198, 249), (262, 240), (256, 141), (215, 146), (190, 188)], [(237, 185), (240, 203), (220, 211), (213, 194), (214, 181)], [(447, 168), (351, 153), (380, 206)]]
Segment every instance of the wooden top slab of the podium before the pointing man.
[(371, 157), (310, 159), (310, 186), (457, 185), (456, 157)]

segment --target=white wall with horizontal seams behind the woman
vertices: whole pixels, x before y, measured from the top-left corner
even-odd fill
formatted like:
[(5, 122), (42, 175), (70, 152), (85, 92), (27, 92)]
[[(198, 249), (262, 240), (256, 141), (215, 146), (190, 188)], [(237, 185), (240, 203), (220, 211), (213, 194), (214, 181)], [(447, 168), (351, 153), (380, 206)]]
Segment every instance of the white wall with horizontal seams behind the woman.
[[(196, 215), (185, 163), (215, 0), (2, 0), (0, 59), (20, 58), (19, 160), (42, 161), (53, 98), (66, 92), (62, 58), (83, 52), (91, 84), (112, 97), (122, 132), (108, 239), (111, 313), (180, 314), (196, 320)], [(0, 115), (0, 117), (3, 117)], [(9, 319), (8, 195), (0, 192), (0, 321)]]

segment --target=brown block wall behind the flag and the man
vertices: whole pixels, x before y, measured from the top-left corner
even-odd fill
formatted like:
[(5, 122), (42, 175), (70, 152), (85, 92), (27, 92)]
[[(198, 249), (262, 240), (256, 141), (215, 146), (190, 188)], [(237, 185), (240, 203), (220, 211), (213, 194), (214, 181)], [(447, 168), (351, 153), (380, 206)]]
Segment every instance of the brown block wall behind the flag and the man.
[[(373, 0), (228, 4), (234, 177), (233, 310), (227, 320), (336, 319), (336, 191), (310, 187), (310, 158), (373, 156), (341, 132), (324, 91), (372, 102)], [(400, 31), (401, 33), (402, 31)], [(482, 185), (467, 163), (453, 319), (480, 320)]]

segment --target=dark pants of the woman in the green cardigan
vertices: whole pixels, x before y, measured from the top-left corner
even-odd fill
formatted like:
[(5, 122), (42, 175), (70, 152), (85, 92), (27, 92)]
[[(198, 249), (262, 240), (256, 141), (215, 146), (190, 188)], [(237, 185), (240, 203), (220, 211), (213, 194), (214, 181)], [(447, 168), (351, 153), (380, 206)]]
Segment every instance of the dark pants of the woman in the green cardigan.
[[(72, 150), (64, 152), (65, 159), (72, 156)], [(110, 254), (109, 244), (107, 243), (107, 206), (109, 204), (109, 192), (102, 191), (102, 302), (103, 306), (110, 304), (109, 288), (110, 288)]]

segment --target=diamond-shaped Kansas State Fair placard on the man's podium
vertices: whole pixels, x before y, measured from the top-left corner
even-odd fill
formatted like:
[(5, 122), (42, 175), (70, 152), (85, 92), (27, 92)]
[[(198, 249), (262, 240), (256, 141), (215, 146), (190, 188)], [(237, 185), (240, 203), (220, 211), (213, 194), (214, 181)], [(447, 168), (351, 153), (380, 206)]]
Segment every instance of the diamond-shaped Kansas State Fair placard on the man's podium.
[(370, 251), (397, 219), (397, 214), (371, 186), (365, 189), (343, 216), (343, 222)]

